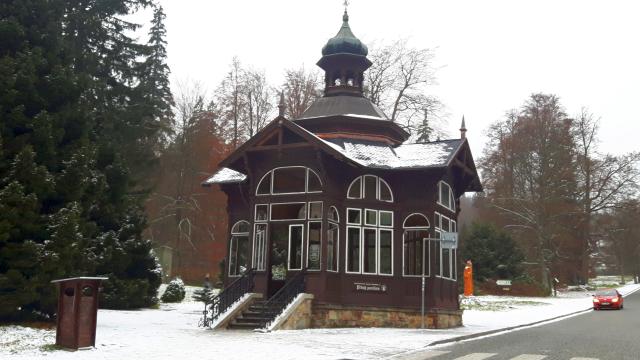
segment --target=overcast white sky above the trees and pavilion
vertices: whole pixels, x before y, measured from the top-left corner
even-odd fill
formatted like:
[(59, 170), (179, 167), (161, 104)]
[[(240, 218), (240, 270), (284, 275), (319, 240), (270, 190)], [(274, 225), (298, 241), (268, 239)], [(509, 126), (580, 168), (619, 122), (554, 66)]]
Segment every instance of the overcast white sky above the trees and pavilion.
[[(264, 69), (314, 67), (341, 25), (342, 0), (160, 0), (167, 14), (172, 84), (209, 90), (232, 57)], [(601, 148), (640, 149), (640, 1), (351, 0), (350, 25), (365, 43), (409, 38), (435, 48), (438, 85), (450, 114), (465, 115), (475, 157), (487, 126), (533, 92), (560, 96), (569, 114), (602, 118)]]

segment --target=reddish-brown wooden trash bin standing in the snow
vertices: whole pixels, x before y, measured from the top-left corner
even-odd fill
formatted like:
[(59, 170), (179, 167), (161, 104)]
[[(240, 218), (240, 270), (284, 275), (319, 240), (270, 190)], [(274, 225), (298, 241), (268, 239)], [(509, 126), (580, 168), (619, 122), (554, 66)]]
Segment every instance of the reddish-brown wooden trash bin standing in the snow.
[(53, 280), (58, 284), (56, 345), (78, 349), (96, 345), (98, 290), (106, 277)]

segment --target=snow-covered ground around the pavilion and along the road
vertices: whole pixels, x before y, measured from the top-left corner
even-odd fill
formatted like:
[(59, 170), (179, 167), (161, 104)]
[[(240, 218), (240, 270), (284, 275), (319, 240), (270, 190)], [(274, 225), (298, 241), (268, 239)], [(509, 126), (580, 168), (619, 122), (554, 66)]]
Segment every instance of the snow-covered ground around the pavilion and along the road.
[[(619, 288), (623, 293), (640, 285)], [(191, 291), (193, 289), (190, 289)], [(190, 291), (190, 292), (191, 292)], [(55, 330), (0, 326), (0, 358), (8, 359), (380, 359), (458, 336), (529, 324), (586, 310), (588, 292), (556, 298), (481, 296), (465, 299), (465, 326), (451, 330), (309, 329), (212, 331), (197, 327), (202, 304), (190, 300), (139, 311), (100, 310), (96, 347), (55, 349)]]

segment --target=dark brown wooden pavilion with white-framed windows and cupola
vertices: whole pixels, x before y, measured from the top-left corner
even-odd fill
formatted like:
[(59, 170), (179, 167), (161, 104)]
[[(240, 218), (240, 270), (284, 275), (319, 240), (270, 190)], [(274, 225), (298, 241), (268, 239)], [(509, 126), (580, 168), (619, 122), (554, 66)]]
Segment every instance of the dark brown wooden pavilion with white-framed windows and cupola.
[(363, 95), (371, 62), (348, 21), (317, 64), (324, 96), (297, 119), (281, 101), (204, 182), (228, 196), (225, 284), (268, 303), (303, 281), (310, 327), (419, 327), (425, 279), (428, 325), (461, 325), (459, 198), (482, 190), (464, 120), (460, 138), (406, 143)]

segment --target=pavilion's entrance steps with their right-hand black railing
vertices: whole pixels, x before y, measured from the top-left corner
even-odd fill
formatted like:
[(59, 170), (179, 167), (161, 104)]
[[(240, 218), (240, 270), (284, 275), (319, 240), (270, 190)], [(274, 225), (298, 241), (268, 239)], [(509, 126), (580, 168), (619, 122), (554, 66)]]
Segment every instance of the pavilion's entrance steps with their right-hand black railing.
[(231, 320), (227, 329), (266, 329), (299, 294), (305, 291), (305, 270), (289, 279), (269, 300), (256, 300)]

